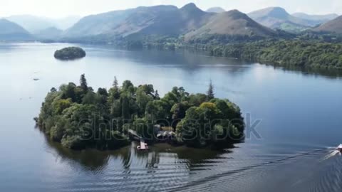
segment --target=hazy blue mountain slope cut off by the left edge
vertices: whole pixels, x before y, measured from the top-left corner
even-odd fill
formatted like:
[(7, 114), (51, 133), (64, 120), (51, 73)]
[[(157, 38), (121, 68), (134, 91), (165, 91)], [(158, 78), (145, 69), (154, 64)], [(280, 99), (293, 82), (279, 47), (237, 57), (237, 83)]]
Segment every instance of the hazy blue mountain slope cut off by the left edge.
[(0, 41), (28, 41), (33, 39), (24, 28), (4, 18), (0, 18), (0, 28)]

